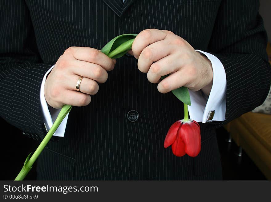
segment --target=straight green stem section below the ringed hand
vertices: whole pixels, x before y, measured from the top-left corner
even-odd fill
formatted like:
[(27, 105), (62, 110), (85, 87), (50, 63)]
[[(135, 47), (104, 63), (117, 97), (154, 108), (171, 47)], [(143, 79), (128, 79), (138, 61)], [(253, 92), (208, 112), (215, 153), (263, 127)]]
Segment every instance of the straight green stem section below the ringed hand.
[[(54, 124), (52, 125), (51, 129), (48, 131), (47, 135), (43, 138), (42, 142), (36, 149), (36, 151), (33, 153), (33, 155), (30, 157), (30, 154), (27, 156), (26, 161), (22, 167), (22, 170), (19, 172), (15, 180), (23, 180), (25, 176), (28, 174), (28, 172), (31, 170), (32, 165), (37, 160), (38, 156), (42, 152), (42, 150), (45, 148), (47, 143), (50, 141), (51, 137), (55, 133), (56, 129), (59, 127), (63, 119), (66, 117), (66, 115), (71, 111), (72, 106), (71, 105), (64, 105), (62, 109), (59, 112), (59, 115), (57, 116)], [(30, 158), (29, 158), (30, 157)]]

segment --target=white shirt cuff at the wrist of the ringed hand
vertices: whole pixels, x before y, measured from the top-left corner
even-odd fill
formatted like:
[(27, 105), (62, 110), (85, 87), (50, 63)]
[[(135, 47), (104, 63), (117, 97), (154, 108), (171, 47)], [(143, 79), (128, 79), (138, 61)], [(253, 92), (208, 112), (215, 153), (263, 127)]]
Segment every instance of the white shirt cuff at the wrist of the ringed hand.
[[(45, 80), (48, 75), (48, 73), (54, 68), (55, 65), (53, 65), (44, 75), (41, 87), (40, 87), (40, 104), (41, 104), (41, 109), (42, 109), (42, 116), (45, 124), (45, 128), (47, 129), (47, 132), (49, 129), (51, 129), (53, 122), (55, 122), (56, 117), (58, 116), (59, 112), (61, 109), (55, 109), (53, 107), (48, 108), (45, 96), (44, 96), (44, 85), (45, 85)], [(65, 129), (67, 125), (67, 120), (68, 120), (68, 115), (63, 119), (61, 124), (59, 125), (58, 129), (55, 131), (53, 136), (58, 136), (58, 137), (64, 137), (65, 134)]]

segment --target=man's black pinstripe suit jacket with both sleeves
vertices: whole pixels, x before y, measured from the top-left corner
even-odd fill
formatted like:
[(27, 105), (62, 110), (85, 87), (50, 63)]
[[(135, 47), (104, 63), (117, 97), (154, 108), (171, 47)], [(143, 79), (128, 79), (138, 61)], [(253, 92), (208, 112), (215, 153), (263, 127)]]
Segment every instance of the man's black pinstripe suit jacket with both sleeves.
[[(171, 30), (195, 49), (214, 54), (227, 75), (226, 121), (201, 124), (199, 156), (163, 148), (182, 103), (161, 94), (134, 57), (117, 60), (91, 104), (74, 107), (65, 137), (38, 159), (38, 179), (221, 179), (215, 128), (260, 105), (270, 86), (266, 33), (256, 0), (1, 0), (1, 116), (37, 140), (44, 131), (43, 75), (69, 46), (101, 49), (119, 34)], [(136, 122), (126, 114), (139, 113)]]

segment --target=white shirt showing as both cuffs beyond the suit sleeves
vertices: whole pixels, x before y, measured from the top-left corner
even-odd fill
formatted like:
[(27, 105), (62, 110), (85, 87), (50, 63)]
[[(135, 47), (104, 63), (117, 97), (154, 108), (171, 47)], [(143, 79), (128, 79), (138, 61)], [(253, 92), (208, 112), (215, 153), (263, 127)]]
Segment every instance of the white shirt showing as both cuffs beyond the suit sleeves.
[[(215, 110), (214, 117), (211, 121), (224, 121), (226, 113), (226, 85), (227, 85), (224, 66), (220, 62), (220, 60), (214, 55), (200, 50), (196, 51), (205, 55), (211, 61), (213, 69), (213, 85), (209, 97), (204, 96), (202, 94), (202, 91), (192, 92), (188, 90), (191, 99), (191, 106), (188, 106), (190, 118), (197, 122), (205, 123), (207, 121), (208, 113), (211, 110)], [(44, 97), (45, 80), (47, 74), (51, 71), (51, 69), (53, 69), (53, 67), (54, 65), (44, 75), (40, 89), (42, 116), (44, 119), (45, 126), (48, 130), (51, 129), (53, 122), (55, 121), (56, 117), (60, 112), (60, 109), (54, 109), (52, 107), (48, 109), (48, 105)], [(69, 114), (67, 114), (65, 119), (59, 125), (59, 128), (56, 130), (54, 136), (64, 137), (68, 115)]]

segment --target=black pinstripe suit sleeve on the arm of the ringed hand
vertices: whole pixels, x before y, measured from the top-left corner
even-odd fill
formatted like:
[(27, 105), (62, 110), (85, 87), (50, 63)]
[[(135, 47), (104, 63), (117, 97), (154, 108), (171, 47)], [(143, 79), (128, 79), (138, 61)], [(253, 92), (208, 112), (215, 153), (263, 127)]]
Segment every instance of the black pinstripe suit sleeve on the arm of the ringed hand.
[(3, 0), (0, 7), (0, 115), (40, 140), (45, 135), (40, 86), (55, 62), (42, 61), (25, 2)]

